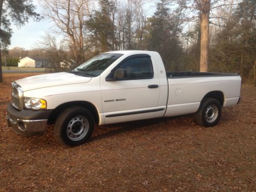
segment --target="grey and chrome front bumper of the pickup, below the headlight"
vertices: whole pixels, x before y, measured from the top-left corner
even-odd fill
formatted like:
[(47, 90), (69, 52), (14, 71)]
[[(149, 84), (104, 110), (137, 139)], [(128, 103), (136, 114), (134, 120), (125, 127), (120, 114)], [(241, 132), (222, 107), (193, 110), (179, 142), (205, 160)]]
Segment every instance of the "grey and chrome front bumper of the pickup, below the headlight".
[(12, 126), (13, 131), (23, 136), (42, 135), (45, 132), (46, 124), (52, 110), (33, 111), (22, 110), (18, 111), (9, 103), (7, 106), (7, 123)]

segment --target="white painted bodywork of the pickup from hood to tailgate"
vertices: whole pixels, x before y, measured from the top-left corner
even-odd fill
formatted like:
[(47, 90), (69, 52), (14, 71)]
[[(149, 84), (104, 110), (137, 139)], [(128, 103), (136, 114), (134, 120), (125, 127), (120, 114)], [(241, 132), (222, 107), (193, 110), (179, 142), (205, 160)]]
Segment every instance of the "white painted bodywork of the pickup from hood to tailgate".
[[(118, 58), (98, 77), (82, 77), (71, 73), (52, 73), (17, 80), (25, 97), (47, 100), (47, 109), (62, 103), (87, 101), (95, 105), (99, 124), (117, 123), (163, 116), (195, 113), (203, 97), (211, 91), (224, 94), (223, 106), (237, 104), (240, 97), (240, 76), (166, 78), (160, 55), (152, 51), (116, 51)], [(106, 81), (112, 69), (134, 54), (151, 56), (154, 77), (143, 80)], [(157, 84), (156, 89), (147, 86)], [(110, 102), (109, 102), (110, 101)], [(158, 109), (163, 109), (158, 111)], [(155, 110), (156, 112), (106, 117), (120, 113)]]

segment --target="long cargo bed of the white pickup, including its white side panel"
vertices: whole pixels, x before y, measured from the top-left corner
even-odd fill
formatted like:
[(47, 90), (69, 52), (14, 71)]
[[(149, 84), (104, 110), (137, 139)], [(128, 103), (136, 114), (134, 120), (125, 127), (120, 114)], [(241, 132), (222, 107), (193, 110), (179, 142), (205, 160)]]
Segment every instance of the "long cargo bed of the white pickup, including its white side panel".
[[(222, 106), (237, 104), (241, 77), (230, 73), (167, 72), (168, 102), (165, 116), (195, 113), (202, 99), (211, 92), (222, 96)], [(203, 77), (203, 78), (202, 78)]]

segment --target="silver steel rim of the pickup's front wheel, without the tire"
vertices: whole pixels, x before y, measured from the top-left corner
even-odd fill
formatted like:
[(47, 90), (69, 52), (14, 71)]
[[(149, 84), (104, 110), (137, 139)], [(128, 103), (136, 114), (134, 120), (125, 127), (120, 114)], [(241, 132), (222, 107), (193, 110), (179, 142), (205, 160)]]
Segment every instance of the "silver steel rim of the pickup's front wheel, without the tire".
[(69, 121), (67, 126), (68, 138), (72, 141), (83, 139), (89, 131), (89, 121), (86, 117), (76, 116)]

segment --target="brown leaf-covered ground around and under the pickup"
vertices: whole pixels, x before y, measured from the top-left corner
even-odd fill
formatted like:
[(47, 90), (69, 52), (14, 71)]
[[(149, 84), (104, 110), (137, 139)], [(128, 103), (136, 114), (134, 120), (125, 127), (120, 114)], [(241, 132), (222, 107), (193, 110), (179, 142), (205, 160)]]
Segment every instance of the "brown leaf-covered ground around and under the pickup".
[(96, 126), (88, 143), (65, 148), (6, 123), (10, 83), (0, 83), (0, 191), (256, 191), (256, 88), (224, 108), (218, 125), (193, 115)]

